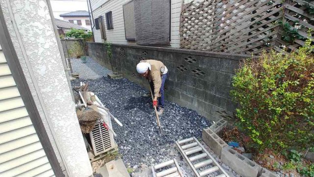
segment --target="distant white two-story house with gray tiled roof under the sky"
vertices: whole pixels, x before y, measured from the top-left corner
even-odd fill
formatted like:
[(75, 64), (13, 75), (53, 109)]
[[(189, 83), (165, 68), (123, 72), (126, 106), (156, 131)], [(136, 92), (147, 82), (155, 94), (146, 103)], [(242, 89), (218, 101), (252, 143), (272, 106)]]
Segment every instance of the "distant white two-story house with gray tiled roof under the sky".
[(62, 17), (64, 21), (91, 30), (89, 14), (86, 10), (78, 10), (74, 12), (64, 13), (61, 14), (60, 17)]

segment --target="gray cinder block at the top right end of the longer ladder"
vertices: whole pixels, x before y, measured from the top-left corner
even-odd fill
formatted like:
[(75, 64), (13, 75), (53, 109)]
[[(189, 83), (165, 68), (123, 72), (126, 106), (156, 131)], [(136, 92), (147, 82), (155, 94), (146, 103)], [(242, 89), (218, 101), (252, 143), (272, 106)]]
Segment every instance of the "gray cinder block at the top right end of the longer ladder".
[(211, 131), (210, 128), (203, 129), (202, 140), (219, 157), (221, 156), (221, 149), (228, 146), (218, 135)]

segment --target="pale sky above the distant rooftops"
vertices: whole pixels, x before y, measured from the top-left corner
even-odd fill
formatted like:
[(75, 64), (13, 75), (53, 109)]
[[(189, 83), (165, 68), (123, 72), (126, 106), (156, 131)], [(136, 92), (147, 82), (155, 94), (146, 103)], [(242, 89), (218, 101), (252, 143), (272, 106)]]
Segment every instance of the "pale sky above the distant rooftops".
[(60, 14), (73, 12), (77, 10), (86, 10), (87, 1), (86, 0), (50, 0), (52, 6), (53, 16), (56, 19), (61, 19)]

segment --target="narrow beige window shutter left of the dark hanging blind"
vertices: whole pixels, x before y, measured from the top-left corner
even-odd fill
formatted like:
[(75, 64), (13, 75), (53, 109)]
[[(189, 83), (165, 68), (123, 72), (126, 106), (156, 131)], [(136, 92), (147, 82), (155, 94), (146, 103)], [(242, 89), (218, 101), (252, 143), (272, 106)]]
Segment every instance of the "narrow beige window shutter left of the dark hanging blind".
[(124, 29), (127, 40), (135, 40), (134, 3), (133, 0), (123, 5)]

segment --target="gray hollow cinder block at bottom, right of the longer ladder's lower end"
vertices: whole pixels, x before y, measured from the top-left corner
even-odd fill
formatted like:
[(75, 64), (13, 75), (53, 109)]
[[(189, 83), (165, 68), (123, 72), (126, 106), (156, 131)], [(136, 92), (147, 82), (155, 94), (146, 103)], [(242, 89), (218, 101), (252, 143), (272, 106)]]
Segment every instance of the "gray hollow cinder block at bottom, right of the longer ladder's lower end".
[(221, 151), (221, 160), (241, 177), (259, 177), (262, 167), (230, 147)]

